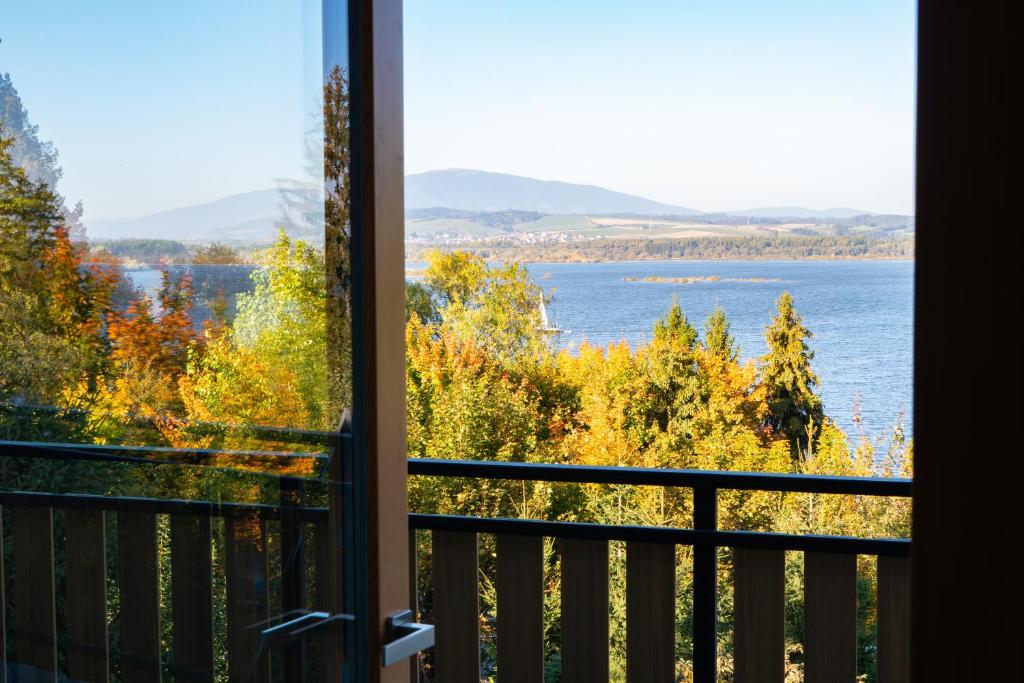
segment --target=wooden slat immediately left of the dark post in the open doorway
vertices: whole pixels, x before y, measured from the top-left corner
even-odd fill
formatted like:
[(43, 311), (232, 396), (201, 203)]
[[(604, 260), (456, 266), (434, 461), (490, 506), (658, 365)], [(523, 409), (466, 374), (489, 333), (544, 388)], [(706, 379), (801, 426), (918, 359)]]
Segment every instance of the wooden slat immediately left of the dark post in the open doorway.
[(676, 547), (626, 546), (626, 678), (676, 680)]

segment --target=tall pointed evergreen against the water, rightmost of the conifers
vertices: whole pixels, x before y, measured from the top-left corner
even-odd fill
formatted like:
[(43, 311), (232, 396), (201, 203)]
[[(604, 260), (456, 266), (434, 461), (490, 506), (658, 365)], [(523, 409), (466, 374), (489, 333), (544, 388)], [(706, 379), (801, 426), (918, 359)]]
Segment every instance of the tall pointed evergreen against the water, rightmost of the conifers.
[(818, 384), (811, 370), (814, 352), (807, 346), (813, 335), (804, 327), (788, 292), (782, 293), (776, 307), (775, 317), (765, 331), (768, 352), (760, 362), (761, 384), (768, 402), (765, 422), (788, 437), (795, 456), (807, 459), (823, 421), (821, 399), (814, 393)]

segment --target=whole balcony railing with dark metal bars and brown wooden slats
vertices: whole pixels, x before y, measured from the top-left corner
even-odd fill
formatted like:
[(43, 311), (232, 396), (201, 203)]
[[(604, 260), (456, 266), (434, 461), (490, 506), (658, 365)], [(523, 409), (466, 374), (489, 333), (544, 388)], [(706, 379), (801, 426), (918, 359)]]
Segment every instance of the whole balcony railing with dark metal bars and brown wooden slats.
[[(343, 457), (347, 442), (342, 440)], [(60, 458), (132, 465), (215, 465), (222, 456), (253, 465), (285, 458), (326, 460), (323, 454), (0, 442), (2, 462)], [(494, 535), (495, 671), (501, 681), (544, 680), (545, 539), (554, 539), (560, 559), (559, 647), (561, 680), (567, 683), (608, 680), (609, 542), (626, 546), (629, 681), (677, 680), (678, 546), (693, 549), (693, 681), (705, 683), (717, 677), (720, 549), (732, 553), (735, 681), (783, 680), (785, 553), (793, 551), (804, 553), (805, 680), (831, 683), (856, 677), (858, 556), (876, 557), (878, 562), (878, 681), (909, 679), (910, 541), (723, 530), (718, 524), (718, 498), (723, 490), (905, 498), (910, 496), (907, 479), (444, 460), (410, 460), (409, 473), (666, 486), (693, 493), (690, 528), (411, 514), (412, 557), (417, 556), (418, 531), (421, 538), (429, 533), (431, 541), (429, 617), (436, 627), (436, 646), (428, 655), (429, 672), (421, 672), (424, 677), (444, 683), (480, 680), (478, 537)], [(279, 477), (278, 481), (275, 505), (0, 493), (2, 519), (10, 535), (5, 562), (0, 565), (0, 587), (6, 569), (14, 602), (13, 609), (8, 609), (0, 593), (4, 606), (0, 620), (5, 613), (13, 614), (12, 625), (0, 621), (7, 635), (0, 639), (0, 659), (8, 660), (4, 647), (9, 640), (16, 650), (16, 659), (11, 660), (31, 671), (60, 671), (81, 680), (106, 680), (112, 670), (124, 680), (160, 680), (163, 671), (179, 680), (212, 680), (215, 668), (223, 665), (215, 664), (217, 636), (210, 625), (217, 599), (226, 599), (222, 658), (231, 680), (269, 680), (271, 671), (280, 672), (274, 675), (279, 680), (326, 680), (324, 672), (340, 666), (332, 659), (336, 652), (317, 648), (314, 639), (268, 652), (261, 649), (260, 629), (253, 628), (272, 623), (271, 616), (282, 612), (328, 606), (323, 586), (328, 584), (324, 572), (331, 566), (327, 559), (329, 515), (326, 508), (310, 504), (314, 496), (304, 494), (316, 480)], [(54, 539), (55, 512), (62, 518), (62, 539)], [(108, 514), (112, 512), (115, 520)], [(211, 533), (211, 520), (222, 520), (218, 522), (220, 535)], [(243, 527), (245, 532), (238, 532)], [(161, 528), (168, 529), (170, 554), (170, 575), (163, 580), (157, 556)], [(118, 549), (111, 560), (105, 556), (105, 540), (112, 533), (118, 539)], [(312, 561), (305, 551), (307, 543), (314, 549)], [(62, 597), (54, 582), (58, 573), (55, 547), (67, 558)], [(222, 558), (218, 567), (214, 567), (214, 557)], [(116, 592), (131, 596), (120, 600), (116, 609), (108, 591), (109, 560), (118, 567)], [(271, 570), (273, 566), (276, 569)], [(414, 562), (414, 608), (416, 570)], [(170, 609), (160, 606), (161, 596), (167, 594), (162, 582), (170, 585)], [(224, 586), (222, 594), (217, 593), (218, 582)], [(58, 633), (54, 617), (54, 605), (60, 600), (63, 634)], [(162, 617), (171, 623), (162, 626)], [(109, 627), (120, 634), (113, 649)], [(312, 656), (307, 653), (310, 644)], [(128, 676), (130, 672), (137, 676)]]

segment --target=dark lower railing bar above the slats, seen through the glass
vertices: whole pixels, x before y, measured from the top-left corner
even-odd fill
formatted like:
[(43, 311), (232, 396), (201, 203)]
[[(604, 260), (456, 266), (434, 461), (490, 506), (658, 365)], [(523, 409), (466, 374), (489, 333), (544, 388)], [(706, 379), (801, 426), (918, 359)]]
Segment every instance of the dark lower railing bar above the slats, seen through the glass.
[(151, 514), (187, 514), (204, 517), (248, 517), (263, 519), (297, 519), (326, 523), (327, 508), (283, 508), (262, 503), (214, 503), (183, 499), (95, 496), (91, 494), (46, 494), (36, 492), (2, 492), (0, 504), (25, 508), (55, 508), (75, 510), (109, 510)]

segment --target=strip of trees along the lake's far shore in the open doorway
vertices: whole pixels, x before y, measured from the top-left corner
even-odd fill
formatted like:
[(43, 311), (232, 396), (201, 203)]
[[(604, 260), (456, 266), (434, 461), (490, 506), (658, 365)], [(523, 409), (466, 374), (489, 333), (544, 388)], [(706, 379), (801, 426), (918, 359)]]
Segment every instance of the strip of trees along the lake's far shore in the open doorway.
[[(787, 260), (787, 259), (907, 259), (913, 258), (912, 238), (862, 236), (800, 237), (707, 237), (653, 240), (606, 239), (577, 242), (524, 244), (488, 241), (460, 244), (443, 249), (467, 251), (486, 260), (523, 262), (689, 260)], [(407, 257), (422, 260), (436, 247), (410, 246)]]

